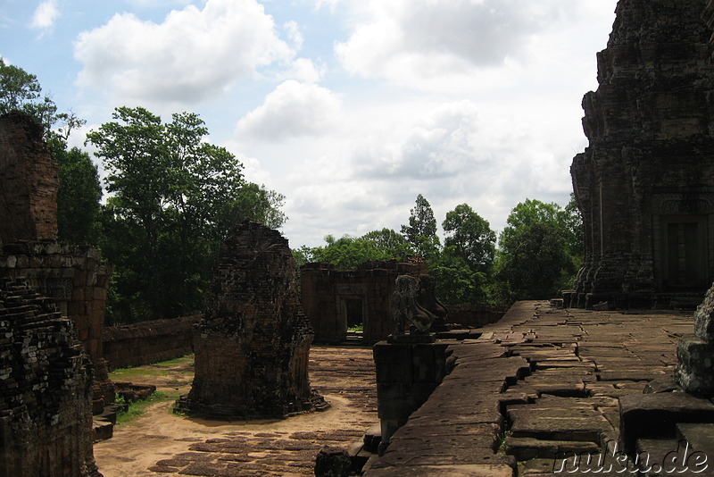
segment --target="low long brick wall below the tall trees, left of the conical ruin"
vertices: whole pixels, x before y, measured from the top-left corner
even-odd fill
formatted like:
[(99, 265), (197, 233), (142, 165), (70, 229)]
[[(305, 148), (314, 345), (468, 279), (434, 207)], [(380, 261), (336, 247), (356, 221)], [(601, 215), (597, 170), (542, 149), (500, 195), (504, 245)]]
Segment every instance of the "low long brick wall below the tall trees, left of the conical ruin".
[(104, 327), (109, 368), (158, 363), (193, 351), (193, 326), (203, 315)]

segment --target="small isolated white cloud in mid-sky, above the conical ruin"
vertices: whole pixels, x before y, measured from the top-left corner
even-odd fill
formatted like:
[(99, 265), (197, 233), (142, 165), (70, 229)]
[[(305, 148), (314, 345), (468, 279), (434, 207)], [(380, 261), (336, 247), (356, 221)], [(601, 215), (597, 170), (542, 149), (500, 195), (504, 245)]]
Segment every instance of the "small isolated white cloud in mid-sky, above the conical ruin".
[(281, 141), (325, 134), (340, 110), (340, 99), (327, 88), (290, 79), (265, 102), (238, 121), (239, 138)]

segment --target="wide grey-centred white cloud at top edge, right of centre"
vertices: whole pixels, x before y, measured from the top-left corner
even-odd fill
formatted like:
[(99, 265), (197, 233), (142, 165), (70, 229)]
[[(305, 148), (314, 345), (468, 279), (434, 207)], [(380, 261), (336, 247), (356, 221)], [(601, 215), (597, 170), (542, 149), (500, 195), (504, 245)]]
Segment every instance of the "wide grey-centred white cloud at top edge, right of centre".
[(371, 0), (356, 8), (353, 34), (336, 54), (365, 77), (473, 74), (508, 63), (536, 32), (578, 8), (571, 0)]

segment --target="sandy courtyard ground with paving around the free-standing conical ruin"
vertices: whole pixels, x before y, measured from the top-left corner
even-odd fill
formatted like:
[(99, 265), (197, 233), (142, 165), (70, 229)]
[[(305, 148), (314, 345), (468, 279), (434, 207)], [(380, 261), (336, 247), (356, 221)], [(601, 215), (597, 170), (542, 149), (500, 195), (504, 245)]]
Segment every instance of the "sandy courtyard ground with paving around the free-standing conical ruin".
[[(95, 444), (96, 464), (104, 477), (313, 475), (320, 448), (349, 447), (378, 417), (371, 348), (312, 347), (310, 370), (312, 388), (331, 405), (327, 411), (226, 423), (172, 414), (173, 399), (157, 402)], [(173, 397), (190, 390), (193, 362), (131, 371), (126, 381), (154, 384)]]

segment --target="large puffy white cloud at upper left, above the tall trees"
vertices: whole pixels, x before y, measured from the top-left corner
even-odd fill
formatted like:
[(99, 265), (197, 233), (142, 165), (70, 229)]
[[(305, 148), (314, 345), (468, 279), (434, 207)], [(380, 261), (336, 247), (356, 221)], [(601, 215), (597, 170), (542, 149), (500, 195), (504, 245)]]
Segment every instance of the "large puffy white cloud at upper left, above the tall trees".
[(207, 0), (160, 24), (118, 13), (80, 34), (74, 54), (84, 64), (82, 86), (124, 100), (195, 104), (261, 67), (289, 62), (295, 51), (255, 0)]

